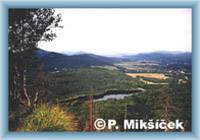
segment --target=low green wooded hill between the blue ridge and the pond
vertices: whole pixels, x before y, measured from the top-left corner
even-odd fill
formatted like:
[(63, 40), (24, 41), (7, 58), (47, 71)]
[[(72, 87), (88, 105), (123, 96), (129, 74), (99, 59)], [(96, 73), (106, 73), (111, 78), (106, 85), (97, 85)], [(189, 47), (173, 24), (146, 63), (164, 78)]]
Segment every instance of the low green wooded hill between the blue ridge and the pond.
[[(69, 69), (59, 73), (46, 75), (49, 81), (48, 89), (55, 96), (66, 98), (77, 95), (96, 94), (109, 89), (132, 89), (138, 87), (138, 79), (131, 78), (122, 72), (104, 68)], [(54, 98), (56, 98), (54, 97)]]

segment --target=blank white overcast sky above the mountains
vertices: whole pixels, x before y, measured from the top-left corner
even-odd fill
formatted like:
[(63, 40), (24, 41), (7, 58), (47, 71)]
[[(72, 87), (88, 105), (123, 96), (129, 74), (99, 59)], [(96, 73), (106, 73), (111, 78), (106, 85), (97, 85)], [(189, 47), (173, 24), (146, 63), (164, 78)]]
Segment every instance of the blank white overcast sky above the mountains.
[(98, 55), (191, 51), (191, 9), (56, 9), (63, 29), (40, 48)]

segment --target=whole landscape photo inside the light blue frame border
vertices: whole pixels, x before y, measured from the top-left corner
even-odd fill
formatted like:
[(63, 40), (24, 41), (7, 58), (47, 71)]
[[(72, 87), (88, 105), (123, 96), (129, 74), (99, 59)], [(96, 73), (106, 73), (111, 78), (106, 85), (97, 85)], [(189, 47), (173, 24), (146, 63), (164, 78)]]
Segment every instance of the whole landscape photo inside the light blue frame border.
[(191, 9), (9, 9), (8, 23), (9, 131), (192, 131)]

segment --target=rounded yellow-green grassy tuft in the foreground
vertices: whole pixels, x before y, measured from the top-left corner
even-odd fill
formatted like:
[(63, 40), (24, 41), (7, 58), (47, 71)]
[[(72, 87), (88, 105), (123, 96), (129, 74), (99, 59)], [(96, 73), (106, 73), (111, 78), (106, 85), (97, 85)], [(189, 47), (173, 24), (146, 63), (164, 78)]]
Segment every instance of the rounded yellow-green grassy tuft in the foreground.
[(59, 106), (40, 105), (24, 119), (18, 131), (75, 131), (75, 116)]

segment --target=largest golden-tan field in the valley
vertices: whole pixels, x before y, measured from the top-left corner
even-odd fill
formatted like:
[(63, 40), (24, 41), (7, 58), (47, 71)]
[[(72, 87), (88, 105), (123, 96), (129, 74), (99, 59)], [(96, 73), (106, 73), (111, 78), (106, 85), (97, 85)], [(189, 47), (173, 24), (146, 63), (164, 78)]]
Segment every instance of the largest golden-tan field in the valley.
[(126, 73), (128, 76), (131, 77), (146, 77), (146, 78), (155, 78), (155, 79), (160, 79), (160, 80), (165, 80), (169, 77), (165, 76), (162, 73)]

